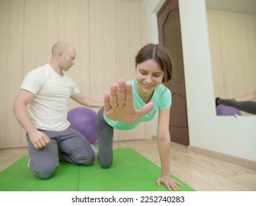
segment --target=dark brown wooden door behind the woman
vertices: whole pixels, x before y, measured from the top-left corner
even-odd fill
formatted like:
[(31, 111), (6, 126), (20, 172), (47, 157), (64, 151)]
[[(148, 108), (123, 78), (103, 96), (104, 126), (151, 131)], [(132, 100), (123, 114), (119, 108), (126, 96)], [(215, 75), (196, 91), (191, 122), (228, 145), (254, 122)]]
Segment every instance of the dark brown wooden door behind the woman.
[(157, 13), (157, 18), (159, 43), (170, 51), (174, 63), (173, 79), (167, 85), (172, 92), (173, 99), (172, 106), (170, 107), (170, 138), (173, 142), (189, 145), (178, 0), (165, 1), (165, 4), (159, 10), (159, 13)]

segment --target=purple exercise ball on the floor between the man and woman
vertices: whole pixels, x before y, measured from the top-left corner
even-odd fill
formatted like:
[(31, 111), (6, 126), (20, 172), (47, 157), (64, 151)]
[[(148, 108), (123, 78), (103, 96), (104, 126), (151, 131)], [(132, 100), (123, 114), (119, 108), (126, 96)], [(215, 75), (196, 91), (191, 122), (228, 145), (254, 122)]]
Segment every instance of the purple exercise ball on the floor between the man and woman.
[(97, 141), (96, 118), (97, 113), (86, 107), (77, 107), (68, 113), (68, 121), (72, 127), (91, 144)]

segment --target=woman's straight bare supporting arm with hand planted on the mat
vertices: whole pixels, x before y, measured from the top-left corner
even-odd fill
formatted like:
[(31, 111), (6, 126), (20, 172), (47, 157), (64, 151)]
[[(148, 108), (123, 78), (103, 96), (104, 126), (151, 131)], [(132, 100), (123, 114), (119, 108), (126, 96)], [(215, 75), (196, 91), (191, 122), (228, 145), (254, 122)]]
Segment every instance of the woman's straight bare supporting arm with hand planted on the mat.
[(170, 132), (169, 132), (170, 107), (165, 110), (159, 110), (159, 119), (157, 127), (157, 146), (162, 166), (162, 174), (157, 184), (164, 183), (171, 190), (178, 190), (182, 186), (170, 177)]

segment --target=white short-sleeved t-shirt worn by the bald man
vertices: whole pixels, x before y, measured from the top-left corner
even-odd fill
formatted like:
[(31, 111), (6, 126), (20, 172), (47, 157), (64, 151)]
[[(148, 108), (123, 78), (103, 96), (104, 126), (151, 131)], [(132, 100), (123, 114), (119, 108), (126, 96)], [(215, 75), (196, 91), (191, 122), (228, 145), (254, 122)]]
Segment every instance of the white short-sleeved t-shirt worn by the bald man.
[(61, 131), (69, 127), (67, 103), (70, 96), (80, 93), (72, 79), (60, 76), (46, 64), (30, 71), (21, 89), (35, 94), (27, 109), (36, 128)]

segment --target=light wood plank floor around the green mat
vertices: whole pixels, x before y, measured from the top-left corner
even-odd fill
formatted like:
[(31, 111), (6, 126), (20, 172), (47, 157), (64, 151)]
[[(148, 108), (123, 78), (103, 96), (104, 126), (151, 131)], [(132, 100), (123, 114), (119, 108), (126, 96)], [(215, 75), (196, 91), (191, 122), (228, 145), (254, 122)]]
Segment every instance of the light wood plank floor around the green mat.
[[(156, 140), (114, 142), (114, 148), (120, 147), (130, 147), (160, 166)], [(27, 152), (27, 148), (0, 149), (0, 171)], [(170, 169), (196, 191), (256, 191), (255, 170), (192, 152), (179, 143), (171, 144)]]

